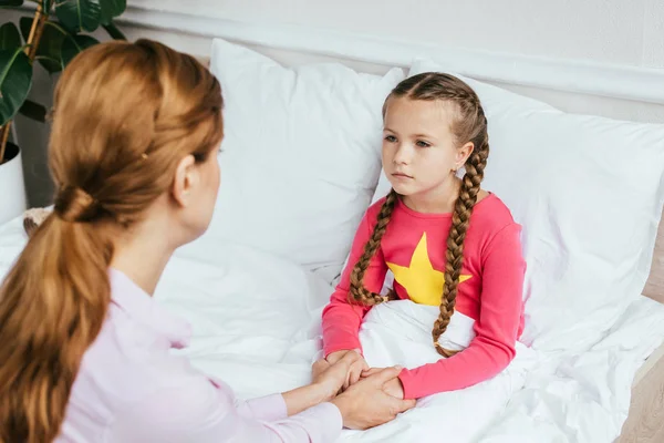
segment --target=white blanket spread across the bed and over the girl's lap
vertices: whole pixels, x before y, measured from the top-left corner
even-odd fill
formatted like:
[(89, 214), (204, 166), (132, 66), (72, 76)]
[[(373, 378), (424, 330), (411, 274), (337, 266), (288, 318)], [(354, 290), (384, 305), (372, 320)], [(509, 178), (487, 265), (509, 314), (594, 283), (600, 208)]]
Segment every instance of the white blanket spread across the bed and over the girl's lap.
[[(24, 241), (20, 220), (0, 227), (0, 276)], [(177, 352), (251, 398), (309, 382), (331, 291), (284, 259), (239, 245), (198, 244), (174, 256), (156, 297), (194, 326), (191, 346)], [(435, 315), (409, 301), (374, 308), (361, 331), (369, 363), (435, 361)], [(453, 330), (448, 339), (461, 340)], [(609, 443), (626, 418), (636, 370), (663, 338), (664, 307), (641, 298), (581, 354), (546, 354), (519, 343), (515, 361), (496, 378), (422, 399), (395, 421), (346, 430), (341, 441)]]

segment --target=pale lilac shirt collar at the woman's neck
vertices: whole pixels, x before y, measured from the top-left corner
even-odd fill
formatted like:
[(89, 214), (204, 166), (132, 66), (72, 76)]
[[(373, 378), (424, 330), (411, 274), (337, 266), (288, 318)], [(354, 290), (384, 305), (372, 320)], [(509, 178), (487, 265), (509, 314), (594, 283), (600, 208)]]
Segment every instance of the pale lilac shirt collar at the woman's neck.
[(191, 338), (191, 326), (168, 312), (122, 271), (111, 268), (111, 299), (133, 319), (151, 327), (170, 342), (172, 348), (184, 348)]

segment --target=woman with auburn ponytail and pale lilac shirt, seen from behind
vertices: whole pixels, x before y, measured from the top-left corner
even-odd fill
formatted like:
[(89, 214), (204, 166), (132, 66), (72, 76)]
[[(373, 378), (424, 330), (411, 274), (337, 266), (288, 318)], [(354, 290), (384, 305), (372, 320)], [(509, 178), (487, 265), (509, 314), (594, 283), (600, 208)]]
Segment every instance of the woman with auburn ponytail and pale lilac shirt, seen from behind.
[(331, 442), (413, 406), (383, 392), (392, 368), (333, 399), (356, 356), (238, 402), (169, 352), (190, 328), (151, 295), (219, 186), (221, 90), (201, 64), (146, 40), (98, 44), (54, 103), (54, 210), (0, 287), (0, 443)]

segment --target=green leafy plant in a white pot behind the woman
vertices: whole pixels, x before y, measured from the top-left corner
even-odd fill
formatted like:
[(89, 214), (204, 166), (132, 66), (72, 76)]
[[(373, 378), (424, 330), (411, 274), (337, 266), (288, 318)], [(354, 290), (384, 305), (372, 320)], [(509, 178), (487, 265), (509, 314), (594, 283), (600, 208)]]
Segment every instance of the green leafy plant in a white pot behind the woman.
[[(50, 74), (62, 71), (79, 52), (98, 43), (86, 33), (100, 27), (113, 39), (125, 39), (113, 19), (124, 12), (126, 0), (30, 2), (35, 9), (19, 20), (19, 27), (0, 25), (0, 223), (25, 209), (21, 152), (9, 142), (12, 119), (18, 113), (39, 122), (46, 117), (43, 105), (28, 100), (34, 62)], [(23, 0), (0, 0), (0, 9), (22, 4)]]

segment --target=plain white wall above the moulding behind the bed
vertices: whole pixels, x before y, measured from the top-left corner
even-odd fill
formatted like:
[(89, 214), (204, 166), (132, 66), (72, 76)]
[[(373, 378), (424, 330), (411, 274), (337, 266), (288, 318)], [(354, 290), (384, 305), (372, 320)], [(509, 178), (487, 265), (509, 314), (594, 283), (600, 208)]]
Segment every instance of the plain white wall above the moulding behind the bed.
[(128, 0), (489, 51), (664, 68), (663, 0)]

